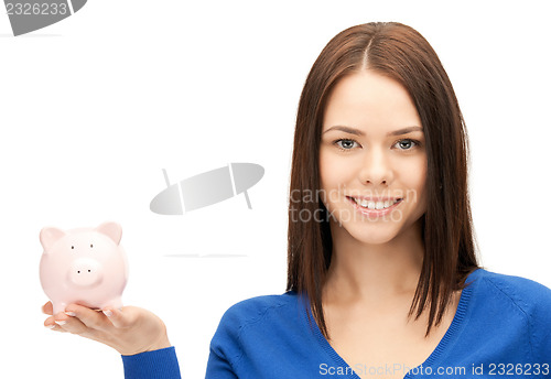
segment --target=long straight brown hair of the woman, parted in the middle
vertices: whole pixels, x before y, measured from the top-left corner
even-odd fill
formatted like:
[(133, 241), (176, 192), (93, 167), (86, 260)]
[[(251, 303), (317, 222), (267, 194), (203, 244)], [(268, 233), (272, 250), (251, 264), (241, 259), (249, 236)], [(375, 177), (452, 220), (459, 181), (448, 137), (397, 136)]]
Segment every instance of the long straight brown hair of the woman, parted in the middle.
[(320, 188), (320, 141), (327, 97), (342, 77), (363, 69), (403, 85), (425, 132), (425, 249), (408, 316), (417, 310), (417, 320), (430, 306), (429, 335), (431, 327), (442, 321), (453, 292), (463, 289), (465, 278), (478, 268), (467, 187), (468, 140), (455, 93), (436, 53), (419, 32), (401, 23), (367, 23), (338, 33), (310, 71), (294, 134), (287, 290), (305, 295), (305, 305), (310, 305), (321, 332), (329, 338), (322, 289), (333, 241), (327, 209), (320, 196), (312, 199), (311, 194)]

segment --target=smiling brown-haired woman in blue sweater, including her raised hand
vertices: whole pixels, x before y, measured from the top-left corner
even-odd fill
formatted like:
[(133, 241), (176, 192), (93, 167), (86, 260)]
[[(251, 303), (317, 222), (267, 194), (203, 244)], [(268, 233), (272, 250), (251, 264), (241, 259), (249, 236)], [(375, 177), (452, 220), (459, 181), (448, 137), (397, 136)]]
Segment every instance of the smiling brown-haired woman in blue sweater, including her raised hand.
[[(400, 23), (347, 29), (299, 105), (288, 292), (226, 312), (206, 376), (551, 377), (551, 290), (479, 268), (474, 245), (467, 138), (436, 54)], [(144, 310), (73, 304), (45, 325), (112, 346), (128, 378), (180, 377)]]

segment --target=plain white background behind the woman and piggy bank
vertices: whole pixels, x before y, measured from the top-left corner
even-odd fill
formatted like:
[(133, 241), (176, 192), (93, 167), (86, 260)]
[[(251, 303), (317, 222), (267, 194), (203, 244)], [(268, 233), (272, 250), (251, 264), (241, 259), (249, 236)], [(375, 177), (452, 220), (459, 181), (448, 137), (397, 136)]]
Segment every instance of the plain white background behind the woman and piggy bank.
[[(544, 1), (89, 0), (13, 37), (0, 14), (0, 377), (121, 378), (116, 350), (43, 327), (46, 225), (123, 227), (126, 304), (159, 314), (184, 378), (204, 377), (231, 304), (284, 292), (287, 191), (306, 74), (339, 31), (399, 21), (432, 44), (462, 107), (480, 261), (551, 286), (551, 57)], [(264, 177), (185, 216), (151, 198), (229, 162)], [(197, 255), (170, 258), (166, 255)], [(210, 253), (241, 258), (206, 258)]]

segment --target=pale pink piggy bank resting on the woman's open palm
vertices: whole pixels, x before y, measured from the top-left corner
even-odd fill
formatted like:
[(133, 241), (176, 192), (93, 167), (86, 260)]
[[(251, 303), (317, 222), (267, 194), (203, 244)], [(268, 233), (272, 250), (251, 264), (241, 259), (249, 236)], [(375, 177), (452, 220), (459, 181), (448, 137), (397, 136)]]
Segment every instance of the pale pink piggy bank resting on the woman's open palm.
[(51, 227), (41, 230), (44, 253), (40, 281), (54, 314), (72, 303), (90, 308), (122, 306), (128, 262), (119, 245), (121, 237), (117, 223), (67, 231)]

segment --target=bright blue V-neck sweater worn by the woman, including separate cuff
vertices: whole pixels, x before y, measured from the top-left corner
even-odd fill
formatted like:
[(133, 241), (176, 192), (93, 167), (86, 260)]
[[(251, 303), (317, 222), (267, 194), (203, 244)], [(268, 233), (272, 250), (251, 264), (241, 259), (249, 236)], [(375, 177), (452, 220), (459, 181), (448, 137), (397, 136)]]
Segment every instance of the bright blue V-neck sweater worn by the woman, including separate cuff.
[[(359, 378), (374, 369), (404, 378), (551, 378), (551, 290), (484, 269), (466, 282), (450, 328), (415, 368), (350, 368), (317, 325), (310, 327), (300, 296), (288, 292), (246, 300), (224, 314), (206, 378)], [(122, 360), (127, 379), (180, 378), (173, 347)]]

